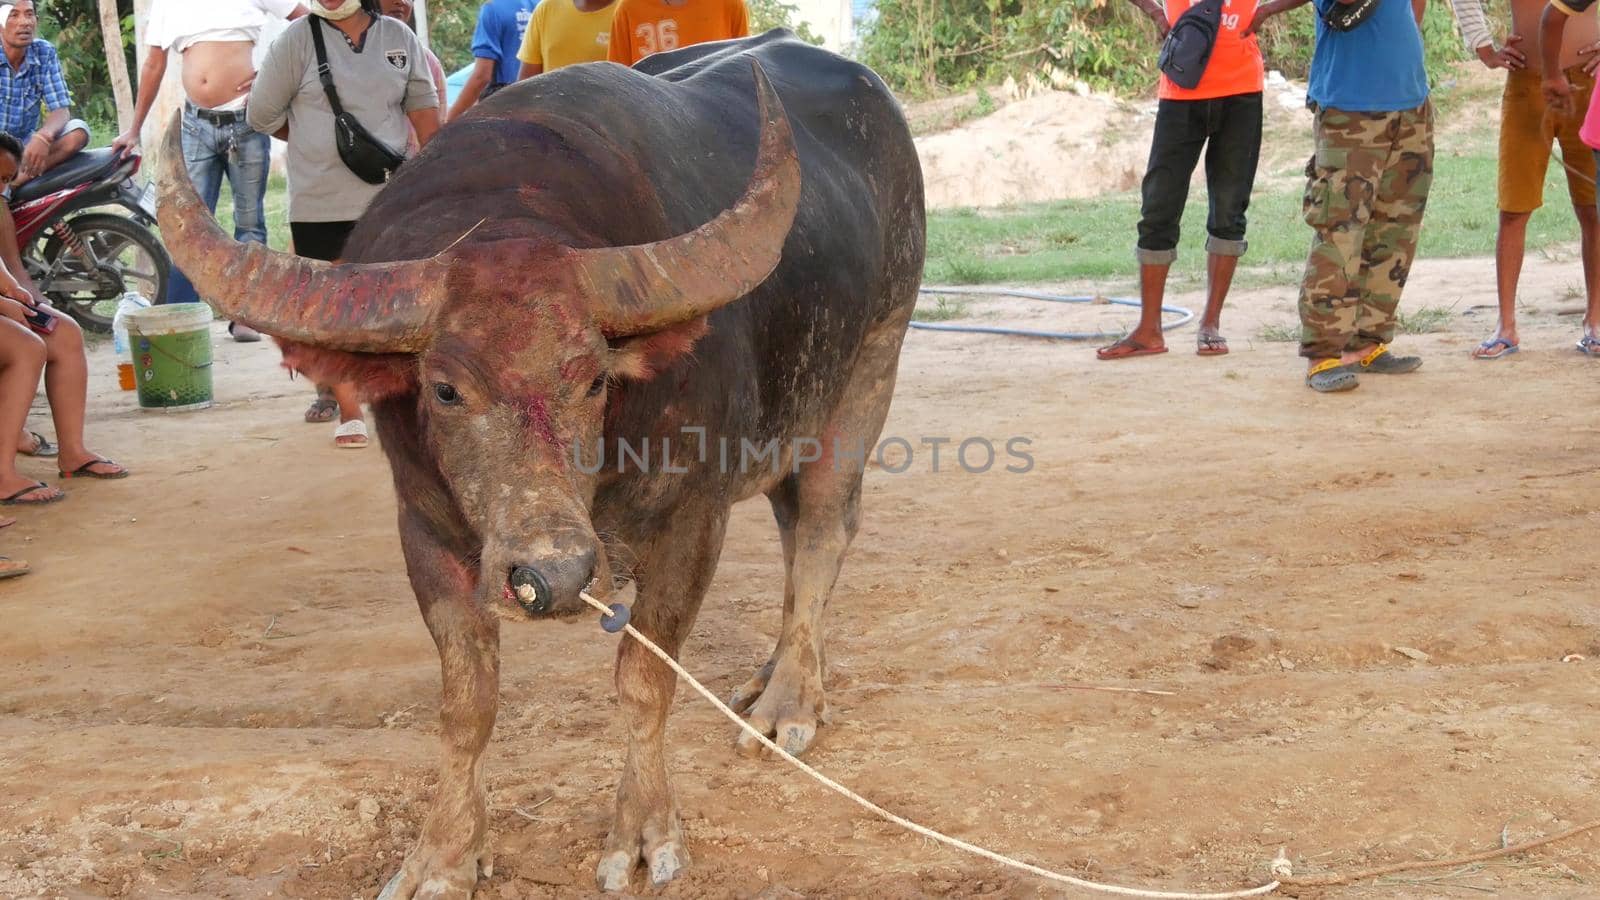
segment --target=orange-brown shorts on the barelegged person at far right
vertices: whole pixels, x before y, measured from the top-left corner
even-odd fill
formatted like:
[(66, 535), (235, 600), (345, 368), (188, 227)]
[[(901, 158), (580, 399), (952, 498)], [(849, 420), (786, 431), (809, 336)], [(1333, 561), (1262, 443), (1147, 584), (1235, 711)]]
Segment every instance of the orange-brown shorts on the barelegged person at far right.
[[(1578, 130), (1589, 112), (1589, 94), (1595, 78), (1573, 66), (1566, 70), (1573, 83), (1571, 119), (1555, 119), (1544, 114), (1544, 93), (1536, 69), (1518, 69), (1506, 74), (1506, 93), (1501, 94), (1501, 159), (1499, 159), (1499, 208), (1504, 213), (1531, 213), (1544, 205), (1544, 178), (1550, 168), (1550, 144), (1560, 141), (1562, 159), (1584, 178), (1566, 170), (1566, 194), (1574, 207), (1595, 205), (1595, 152), (1578, 138)], [(1565, 168), (1565, 167), (1563, 167)]]

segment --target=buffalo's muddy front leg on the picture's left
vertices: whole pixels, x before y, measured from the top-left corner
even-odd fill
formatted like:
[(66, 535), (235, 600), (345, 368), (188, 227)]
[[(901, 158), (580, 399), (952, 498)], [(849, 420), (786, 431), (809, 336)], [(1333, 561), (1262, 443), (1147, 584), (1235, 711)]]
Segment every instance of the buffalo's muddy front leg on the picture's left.
[(422, 834), (379, 900), (466, 898), (493, 873), (480, 761), (499, 701), (499, 621), (474, 599), (472, 572), (419, 524), (402, 516), (400, 540), (438, 645), (443, 761)]

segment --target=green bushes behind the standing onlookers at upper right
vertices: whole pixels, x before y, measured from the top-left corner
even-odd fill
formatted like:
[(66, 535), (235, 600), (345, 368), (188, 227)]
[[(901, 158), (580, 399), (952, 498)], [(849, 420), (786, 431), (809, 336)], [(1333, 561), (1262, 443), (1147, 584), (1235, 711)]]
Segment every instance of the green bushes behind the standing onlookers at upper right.
[[(1506, 0), (1490, 0), (1506, 21)], [(1261, 30), (1269, 69), (1304, 78), (1310, 66), (1310, 8), (1277, 16)], [(1427, 6), (1422, 43), (1429, 72), (1466, 58), (1442, 0)], [(1054, 67), (1101, 90), (1155, 91), (1155, 26), (1126, 0), (878, 0), (861, 54), (898, 90), (934, 94)]]

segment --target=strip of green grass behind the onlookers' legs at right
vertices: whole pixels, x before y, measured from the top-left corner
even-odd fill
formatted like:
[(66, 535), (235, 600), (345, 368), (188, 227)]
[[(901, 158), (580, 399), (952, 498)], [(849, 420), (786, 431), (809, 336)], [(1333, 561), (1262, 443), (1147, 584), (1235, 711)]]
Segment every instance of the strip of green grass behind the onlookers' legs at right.
[[(1309, 147), (1309, 135), (1306, 141)], [(1272, 175), (1270, 181), (1258, 179), (1251, 199), (1250, 253), (1243, 263), (1256, 271), (1270, 269), (1270, 279), (1286, 271), (1298, 277), (1310, 240), (1310, 229), (1301, 218), (1304, 176)], [(1269, 186), (1262, 187), (1262, 181)], [(1496, 181), (1491, 138), (1469, 136), (1440, 146), (1419, 253), (1432, 258), (1493, 253)], [(1552, 162), (1544, 192), (1544, 208), (1528, 223), (1530, 253), (1578, 237), (1578, 221), (1565, 202), (1566, 179), (1557, 162)], [(1205, 189), (1195, 186), (1184, 208), (1184, 235), (1173, 266), (1176, 283), (1198, 282), (1205, 274)], [(1138, 221), (1138, 192), (1016, 208), (930, 211), (926, 280), (957, 285), (1131, 280)], [(1253, 280), (1250, 272), (1240, 275), (1246, 285)]]

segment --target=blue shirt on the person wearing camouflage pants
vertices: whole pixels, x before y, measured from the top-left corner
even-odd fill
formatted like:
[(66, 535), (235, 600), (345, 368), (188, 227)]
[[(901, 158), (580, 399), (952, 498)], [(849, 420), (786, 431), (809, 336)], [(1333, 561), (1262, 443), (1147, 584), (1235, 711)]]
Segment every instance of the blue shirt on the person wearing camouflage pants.
[(1338, 2), (1315, 0), (1317, 50), (1306, 96), (1346, 112), (1400, 112), (1427, 102), (1422, 34), (1411, 0), (1379, 0), (1378, 10), (1347, 32), (1322, 21)]

